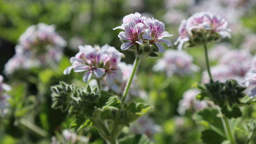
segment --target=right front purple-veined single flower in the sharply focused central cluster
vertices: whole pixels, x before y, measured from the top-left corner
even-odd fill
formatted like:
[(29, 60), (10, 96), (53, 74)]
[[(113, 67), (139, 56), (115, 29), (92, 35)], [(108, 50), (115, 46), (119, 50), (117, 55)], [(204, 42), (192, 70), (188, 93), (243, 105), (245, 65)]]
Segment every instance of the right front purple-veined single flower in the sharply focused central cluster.
[(142, 34), (144, 39), (149, 39), (149, 44), (157, 45), (159, 53), (165, 52), (164, 47), (160, 44), (163, 42), (167, 44), (167, 46), (171, 46), (172, 42), (169, 39), (163, 39), (163, 37), (171, 37), (167, 31), (165, 31), (165, 24), (160, 22), (159, 20), (146, 20), (144, 21), (145, 25), (149, 28), (145, 30), (145, 33)]

